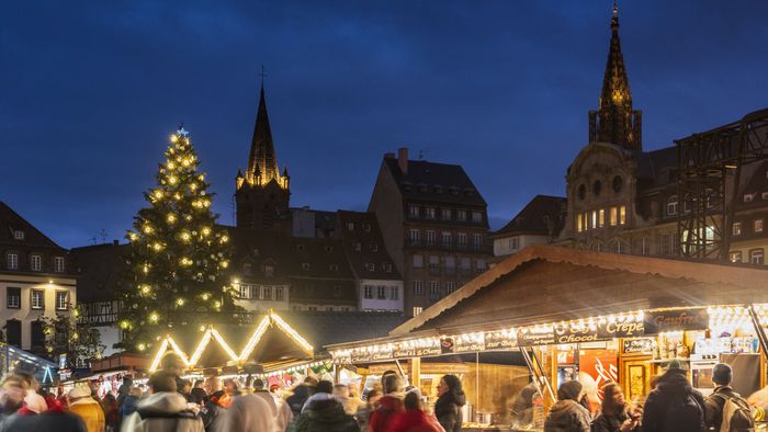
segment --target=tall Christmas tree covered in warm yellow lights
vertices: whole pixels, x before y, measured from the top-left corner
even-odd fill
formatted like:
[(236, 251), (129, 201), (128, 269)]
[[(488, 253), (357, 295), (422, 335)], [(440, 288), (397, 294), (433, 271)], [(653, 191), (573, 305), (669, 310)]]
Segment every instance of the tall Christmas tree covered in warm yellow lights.
[(213, 194), (183, 127), (165, 156), (157, 187), (144, 194), (149, 206), (127, 235), (132, 251), (118, 326), (125, 336), (121, 345), (129, 351), (150, 349), (174, 326), (207, 325), (234, 309), (235, 289), (225, 277), (229, 239), (215, 225)]

